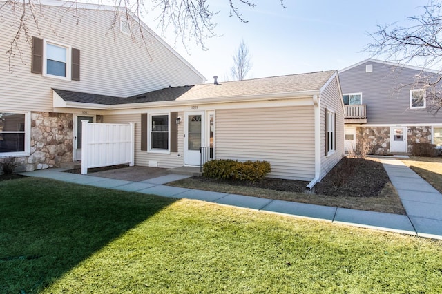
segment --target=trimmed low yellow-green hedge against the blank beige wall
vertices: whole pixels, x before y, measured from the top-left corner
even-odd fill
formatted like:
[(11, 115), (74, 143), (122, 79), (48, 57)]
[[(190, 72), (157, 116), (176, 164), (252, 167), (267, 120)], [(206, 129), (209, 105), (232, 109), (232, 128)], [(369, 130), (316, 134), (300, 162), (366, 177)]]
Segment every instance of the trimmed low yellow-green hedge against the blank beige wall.
[(240, 162), (231, 159), (215, 159), (204, 163), (203, 176), (218, 180), (247, 180), (256, 182), (271, 171), (267, 161)]

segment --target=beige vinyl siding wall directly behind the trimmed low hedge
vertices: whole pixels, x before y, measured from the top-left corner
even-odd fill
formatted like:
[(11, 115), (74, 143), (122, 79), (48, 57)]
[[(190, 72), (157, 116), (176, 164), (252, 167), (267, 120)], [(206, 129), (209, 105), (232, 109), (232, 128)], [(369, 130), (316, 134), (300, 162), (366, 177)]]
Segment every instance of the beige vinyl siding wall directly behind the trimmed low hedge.
[(216, 112), (217, 159), (266, 160), (275, 178), (314, 178), (313, 106)]

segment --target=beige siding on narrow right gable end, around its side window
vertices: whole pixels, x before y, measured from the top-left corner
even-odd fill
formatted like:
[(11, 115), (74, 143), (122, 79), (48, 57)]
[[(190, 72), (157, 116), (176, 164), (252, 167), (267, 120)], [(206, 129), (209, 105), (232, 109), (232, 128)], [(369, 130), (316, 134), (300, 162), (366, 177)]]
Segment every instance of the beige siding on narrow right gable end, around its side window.
[[(320, 96), (320, 148), (321, 178), (323, 178), (344, 156), (344, 111), (336, 78), (323, 90)], [(334, 154), (325, 156), (325, 107), (335, 112), (336, 116), (336, 150)]]

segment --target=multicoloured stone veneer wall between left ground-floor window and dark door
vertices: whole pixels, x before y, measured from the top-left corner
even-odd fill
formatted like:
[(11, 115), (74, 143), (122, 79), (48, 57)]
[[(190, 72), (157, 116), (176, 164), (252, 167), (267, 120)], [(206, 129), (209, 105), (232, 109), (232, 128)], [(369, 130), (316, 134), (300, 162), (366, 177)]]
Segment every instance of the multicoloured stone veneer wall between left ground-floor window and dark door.
[(30, 156), (19, 158), (18, 167), (26, 165), (26, 171), (33, 171), (72, 162), (73, 114), (32, 112), (30, 140)]

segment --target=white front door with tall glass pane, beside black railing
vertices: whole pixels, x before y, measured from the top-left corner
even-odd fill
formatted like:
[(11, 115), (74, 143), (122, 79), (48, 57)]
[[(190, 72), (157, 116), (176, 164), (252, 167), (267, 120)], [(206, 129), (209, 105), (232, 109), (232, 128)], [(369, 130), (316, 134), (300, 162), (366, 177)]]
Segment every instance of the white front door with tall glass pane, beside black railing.
[(205, 142), (204, 112), (186, 112), (184, 126), (184, 165), (200, 165), (200, 147)]

